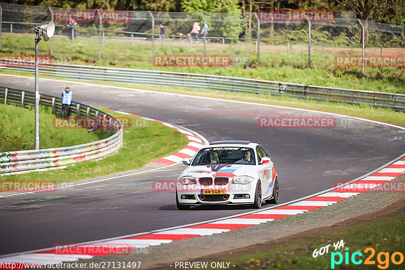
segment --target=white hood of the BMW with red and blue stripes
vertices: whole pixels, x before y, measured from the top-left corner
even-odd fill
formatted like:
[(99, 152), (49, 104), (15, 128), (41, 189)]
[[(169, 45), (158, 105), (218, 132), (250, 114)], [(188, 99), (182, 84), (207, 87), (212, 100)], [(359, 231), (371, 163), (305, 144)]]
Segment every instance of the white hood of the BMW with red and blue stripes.
[(256, 165), (246, 164), (208, 164), (200, 166), (189, 166), (180, 175), (200, 177), (234, 177), (239, 175), (255, 176)]

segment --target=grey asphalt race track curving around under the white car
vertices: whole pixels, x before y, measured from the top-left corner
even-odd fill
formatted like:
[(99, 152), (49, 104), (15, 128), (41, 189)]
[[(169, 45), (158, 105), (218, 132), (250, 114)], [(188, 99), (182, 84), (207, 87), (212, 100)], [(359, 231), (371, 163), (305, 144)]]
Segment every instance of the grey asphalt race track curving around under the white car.
[[(33, 78), (0, 76), (0, 85), (34, 91)], [(108, 86), (40, 80), (41, 93), (190, 128), (208, 141), (251, 140), (271, 153), (280, 202), (350, 181), (403, 153), (405, 130), (349, 117)], [(260, 128), (259, 117), (332, 117), (329, 128)], [(40, 125), (41, 128), (41, 125)], [(251, 211), (245, 206), (176, 208), (171, 192), (151, 182), (176, 179), (184, 165), (110, 181), (0, 198), (0, 255), (148, 232)], [(3, 194), (2, 194), (3, 195)], [(45, 199), (54, 196), (52, 199)], [(34, 201), (34, 199), (36, 199)], [(263, 205), (268, 207), (268, 205)]]

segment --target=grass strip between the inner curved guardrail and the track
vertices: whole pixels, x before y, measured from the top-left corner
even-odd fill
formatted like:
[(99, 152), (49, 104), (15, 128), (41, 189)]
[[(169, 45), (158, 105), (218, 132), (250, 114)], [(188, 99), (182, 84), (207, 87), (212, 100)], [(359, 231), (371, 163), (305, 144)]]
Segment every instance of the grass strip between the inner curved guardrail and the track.
[[(114, 117), (126, 117), (126, 115), (117, 113), (109, 112), (109, 114)], [(139, 118), (130, 118), (132, 124), (130, 128), (124, 129), (123, 147), (102, 160), (84, 161), (61, 170), (3, 176), (1, 181), (47, 179), (59, 184), (136, 169), (157, 158), (177, 152), (188, 143), (187, 137), (173, 128), (155, 121), (146, 121), (147, 124), (136, 125), (136, 120)], [(85, 132), (87, 131), (85, 130)], [(42, 136), (47, 138), (45, 134)]]

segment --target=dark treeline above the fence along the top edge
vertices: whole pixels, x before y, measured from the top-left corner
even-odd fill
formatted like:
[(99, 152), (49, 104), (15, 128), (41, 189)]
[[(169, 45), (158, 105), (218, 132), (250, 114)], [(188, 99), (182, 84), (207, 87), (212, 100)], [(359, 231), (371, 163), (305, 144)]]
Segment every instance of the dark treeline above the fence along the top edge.
[(353, 10), (359, 19), (405, 24), (404, 0), (6, 0), (3, 3), (71, 9), (172, 12), (257, 12), (262, 9)]

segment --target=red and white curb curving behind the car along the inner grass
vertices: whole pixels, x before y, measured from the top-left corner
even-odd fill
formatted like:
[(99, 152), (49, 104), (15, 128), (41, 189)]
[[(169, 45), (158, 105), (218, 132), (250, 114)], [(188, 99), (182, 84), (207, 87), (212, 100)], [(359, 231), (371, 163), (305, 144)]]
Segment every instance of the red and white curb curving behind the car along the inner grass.
[(155, 161), (153, 161), (155, 163), (161, 163), (161, 164), (165, 164), (165, 165), (172, 165), (172, 164), (181, 162), (184, 158), (193, 157), (198, 152), (198, 150), (207, 143), (207, 142), (203, 142), (203, 140), (201, 140), (200, 138), (198, 138), (197, 136), (192, 134), (190, 131), (179, 128), (177, 126), (166, 123), (164, 121), (151, 119), (151, 118), (147, 118), (147, 117), (143, 117), (143, 116), (140, 116), (140, 115), (127, 113), (127, 112), (114, 111), (114, 110), (109, 110), (109, 109), (107, 109), (107, 111), (115, 112), (115, 113), (121, 113), (121, 114), (125, 114), (125, 115), (130, 115), (130, 116), (134, 116), (134, 117), (140, 117), (142, 119), (149, 120), (149, 121), (155, 121), (155, 122), (164, 124), (164, 125), (166, 125), (168, 127), (171, 127), (173, 129), (176, 129), (177, 131), (183, 133), (184, 136), (187, 137), (189, 143), (187, 144), (186, 147), (184, 147), (182, 150), (180, 150), (177, 153), (174, 153), (174, 154), (169, 155), (167, 157), (156, 159)]

